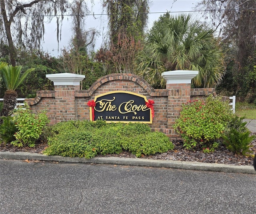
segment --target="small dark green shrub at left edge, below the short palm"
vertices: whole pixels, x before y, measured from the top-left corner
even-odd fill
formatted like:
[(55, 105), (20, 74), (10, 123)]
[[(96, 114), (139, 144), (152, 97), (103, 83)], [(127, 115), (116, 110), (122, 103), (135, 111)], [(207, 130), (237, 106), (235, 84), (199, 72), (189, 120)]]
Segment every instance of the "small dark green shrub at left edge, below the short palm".
[(4, 143), (10, 143), (15, 140), (14, 134), (18, 131), (15, 126), (15, 119), (12, 116), (2, 116), (0, 124), (0, 136)]

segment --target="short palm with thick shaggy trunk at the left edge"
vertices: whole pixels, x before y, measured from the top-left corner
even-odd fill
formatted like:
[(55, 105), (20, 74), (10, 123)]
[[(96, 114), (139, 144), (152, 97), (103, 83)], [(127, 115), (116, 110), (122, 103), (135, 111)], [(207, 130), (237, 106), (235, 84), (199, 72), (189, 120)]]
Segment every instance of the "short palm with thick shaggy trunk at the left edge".
[[(2, 63), (1, 63), (2, 64)], [(15, 89), (23, 82), (26, 76), (34, 69), (28, 69), (21, 75), (22, 66), (4, 65), (1, 68), (1, 77), (4, 80), (6, 91), (4, 92), (4, 106), (1, 116), (8, 116), (16, 106), (18, 96)]]

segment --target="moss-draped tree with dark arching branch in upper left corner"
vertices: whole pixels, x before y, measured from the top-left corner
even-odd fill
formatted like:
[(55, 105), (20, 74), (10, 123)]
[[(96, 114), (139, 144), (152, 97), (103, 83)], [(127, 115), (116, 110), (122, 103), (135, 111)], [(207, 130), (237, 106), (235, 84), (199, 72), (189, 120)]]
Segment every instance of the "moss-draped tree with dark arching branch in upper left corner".
[(16, 64), (15, 44), (40, 48), (44, 36), (45, 16), (48, 21), (56, 17), (57, 41), (59, 42), (63, 15), (69, 6), (68, 0), (33, 0), (26, 4), (18, 0), (0, 1), (0, 25), (4, 26), (4, 33), (0, 33), (0, 36), (4, 37), (1, 41), (8, 42), (10, 62), (13, 66)]

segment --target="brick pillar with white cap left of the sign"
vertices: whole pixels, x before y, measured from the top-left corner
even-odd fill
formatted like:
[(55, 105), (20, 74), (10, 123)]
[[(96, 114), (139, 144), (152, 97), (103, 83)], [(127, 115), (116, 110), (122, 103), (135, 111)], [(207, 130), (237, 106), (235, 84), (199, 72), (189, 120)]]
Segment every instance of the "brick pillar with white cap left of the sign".
[[(51, 123), (58, 123), (65, 120), (77, 120), (75, 91), (80, 90), (80, 81), (84, 75), (60, 73), (50, 74), (46, 77), (54, 83), (54, 104)], [(51, 114), (51, 112), (50, 112)]]

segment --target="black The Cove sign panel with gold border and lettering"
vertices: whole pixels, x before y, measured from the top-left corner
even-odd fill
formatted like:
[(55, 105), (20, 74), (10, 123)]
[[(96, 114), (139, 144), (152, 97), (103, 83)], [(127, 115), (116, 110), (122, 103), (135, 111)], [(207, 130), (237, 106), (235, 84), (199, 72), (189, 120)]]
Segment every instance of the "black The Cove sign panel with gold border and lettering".
[[(146, 96), (126, 91), (113, 91), (95, 97), (96, 106), (90, 108), (92, 120), (106, 122), (152, 123), (151, 108), (146, 106)], [(92, 110), (94, 108), (94, 110)]]

